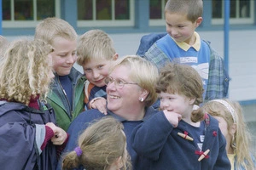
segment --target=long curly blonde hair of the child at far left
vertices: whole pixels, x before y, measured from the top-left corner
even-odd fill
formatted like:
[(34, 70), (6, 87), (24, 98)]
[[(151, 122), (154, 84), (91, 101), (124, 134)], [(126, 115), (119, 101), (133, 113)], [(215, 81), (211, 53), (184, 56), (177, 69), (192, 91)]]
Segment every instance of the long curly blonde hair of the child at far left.
[(0, 99), (28, 105), (31, 97), (47, 94), (51, 81), (52, 65), (48, 57), (51, 50), (42, 41), (10, 42), (0, 61)]

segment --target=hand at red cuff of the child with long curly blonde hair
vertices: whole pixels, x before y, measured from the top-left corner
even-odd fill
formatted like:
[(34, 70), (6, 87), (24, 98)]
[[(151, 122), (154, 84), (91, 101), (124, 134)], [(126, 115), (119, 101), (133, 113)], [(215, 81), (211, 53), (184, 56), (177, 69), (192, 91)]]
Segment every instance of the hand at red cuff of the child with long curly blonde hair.
[(50, 127), (55, 133), (54, 137), (51, 138), (51, 142), (55, 145), (61, 145), (67, 139), (67, 133), (61, 128), (55, 126), (54, 123), (48, 122), (46, 126)]

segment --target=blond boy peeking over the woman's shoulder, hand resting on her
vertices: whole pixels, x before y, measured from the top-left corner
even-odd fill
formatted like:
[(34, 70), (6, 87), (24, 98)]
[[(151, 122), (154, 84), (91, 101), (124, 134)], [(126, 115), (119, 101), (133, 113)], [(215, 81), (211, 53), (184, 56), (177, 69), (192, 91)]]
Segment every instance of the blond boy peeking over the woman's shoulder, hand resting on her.
[(84, 103), (86, 109), (98, 109), (107, 113), (105, 77), (113, 60), (118, 58), (113, 41), (102, 30), (90, 30), (79, 38), (78, 64), (84, 69)]

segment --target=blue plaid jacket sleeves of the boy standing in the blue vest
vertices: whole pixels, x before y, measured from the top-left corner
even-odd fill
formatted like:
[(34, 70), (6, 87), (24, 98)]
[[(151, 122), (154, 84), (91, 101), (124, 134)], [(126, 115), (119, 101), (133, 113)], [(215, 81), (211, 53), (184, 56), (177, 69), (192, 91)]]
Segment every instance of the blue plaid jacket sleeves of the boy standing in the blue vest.
[[(170, 56), (167, 56), (155, 43), (165, 36), (166, 33), (151, 33), (143, 36), (140, 46), (137, 49), (137, 55), (148, 59), (159, 69), (165, 65), (166, 61), (172, 61)], [(209, 75), (207, 89), (205, 89), (205, 102), (211, 99), (226, 98), (229, 90), (230, 77), (225, 70), (224, 59), (211, 47), (209, 42), (204, 42), (207, 43), (210, 49)], [(166, 46), (168, 45), (166, 44)]]

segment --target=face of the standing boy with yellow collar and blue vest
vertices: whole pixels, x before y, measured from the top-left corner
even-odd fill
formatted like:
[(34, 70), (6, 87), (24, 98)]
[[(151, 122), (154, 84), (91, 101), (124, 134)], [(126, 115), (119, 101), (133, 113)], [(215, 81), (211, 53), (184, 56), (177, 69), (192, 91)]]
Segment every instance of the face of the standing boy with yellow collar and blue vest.
[(166, 13), (166, 31), (177, 42), (193, 45), (195, 39), (192, 37), (195, 28), (199, 25), (197, 21), (195, 23), (189, 21), (186, 14)]

